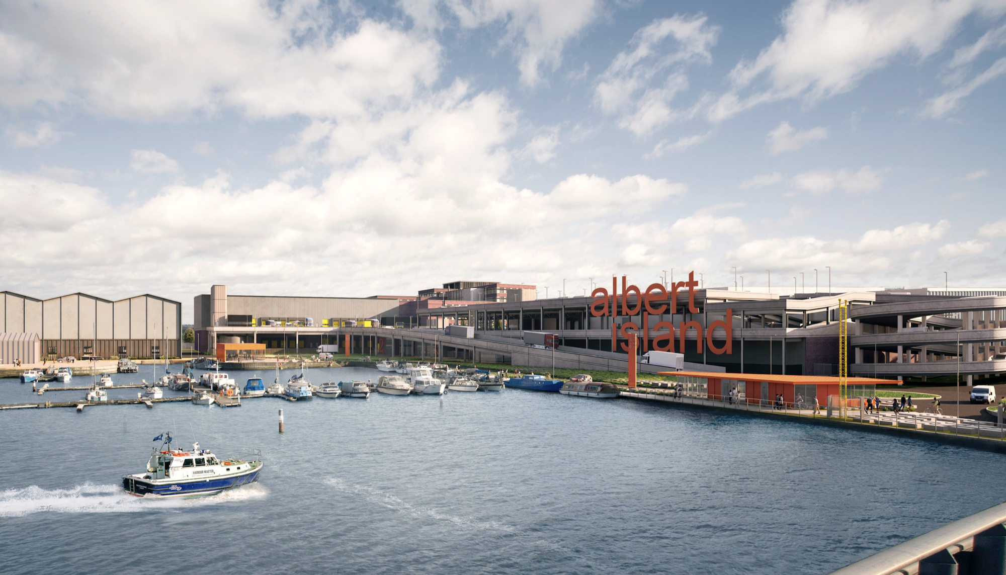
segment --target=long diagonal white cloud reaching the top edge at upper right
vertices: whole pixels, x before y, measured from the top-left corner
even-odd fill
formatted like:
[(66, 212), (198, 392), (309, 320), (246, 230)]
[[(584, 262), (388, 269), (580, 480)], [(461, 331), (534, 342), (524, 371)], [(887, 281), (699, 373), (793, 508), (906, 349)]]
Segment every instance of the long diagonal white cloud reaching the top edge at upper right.
[(795, 0), (783, 33), (730, 72), (731, 89), (709, 107), (712, 122), (768, 102), (808, 104), (852, 89), (900, 54), (925, 58), (975, 12), (1001, 13), (999, 0)]

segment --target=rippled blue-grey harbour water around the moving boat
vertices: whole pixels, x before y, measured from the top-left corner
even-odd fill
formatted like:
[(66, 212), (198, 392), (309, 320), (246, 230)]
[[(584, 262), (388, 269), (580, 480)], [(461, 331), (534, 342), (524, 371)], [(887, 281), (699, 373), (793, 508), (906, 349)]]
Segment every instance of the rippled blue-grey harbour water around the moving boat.
[[(0, 403), (38, 399), (0, 380)], [(998, 455), (885, 434), (523, 390), (0, 420), (4, 573), (825, 573), (999, 503), (984, 487), (1006, 472)], [(165, 430), (223, 456), (261, 448), (260, 483), (123, 494)]]

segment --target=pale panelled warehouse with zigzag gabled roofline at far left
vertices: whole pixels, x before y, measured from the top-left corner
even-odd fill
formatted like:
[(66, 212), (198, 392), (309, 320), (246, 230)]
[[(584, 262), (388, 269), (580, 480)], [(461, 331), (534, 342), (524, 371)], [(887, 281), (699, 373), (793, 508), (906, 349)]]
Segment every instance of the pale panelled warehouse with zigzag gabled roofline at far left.
[(13, 292), (0, 292), (0, 296), (2, 332), (37, 335), (42, 357), (180, 356), (182, 306), (178, 302), (150, 294), (118, 301), (88, 294), (48, 300)]

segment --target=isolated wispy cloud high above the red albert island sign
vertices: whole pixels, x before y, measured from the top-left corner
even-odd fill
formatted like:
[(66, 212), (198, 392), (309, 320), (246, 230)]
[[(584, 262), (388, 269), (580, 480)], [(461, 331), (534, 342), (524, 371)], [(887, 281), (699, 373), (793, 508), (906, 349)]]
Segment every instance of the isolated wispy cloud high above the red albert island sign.
[(619, 114), (619, 125), (637, 136), (694, 115), (671, 108), (688, 88), (685, 67), (712, 61), (719, 27), (702, 15), (659, 18), (640, 28), (600, 76), (595, 102), (605, 114)]

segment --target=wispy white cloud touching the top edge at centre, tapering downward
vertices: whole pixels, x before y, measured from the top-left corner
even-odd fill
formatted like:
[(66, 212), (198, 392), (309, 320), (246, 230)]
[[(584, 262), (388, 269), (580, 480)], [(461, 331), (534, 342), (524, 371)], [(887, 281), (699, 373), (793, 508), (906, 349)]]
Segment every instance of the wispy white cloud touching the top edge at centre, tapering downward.
[(445, 13), (462, 28), (502, 24), (500, 43), (516, 52), (520, 79), (529, 86), (541, 80), (542, 68), (559, 66), (566, 43), (602, 12), (600, 0), (403, 0), (401, 7), (422, 28), (445, 26)]

